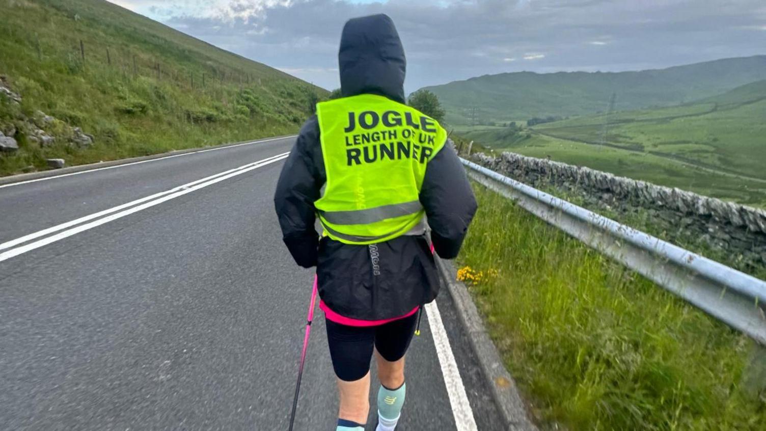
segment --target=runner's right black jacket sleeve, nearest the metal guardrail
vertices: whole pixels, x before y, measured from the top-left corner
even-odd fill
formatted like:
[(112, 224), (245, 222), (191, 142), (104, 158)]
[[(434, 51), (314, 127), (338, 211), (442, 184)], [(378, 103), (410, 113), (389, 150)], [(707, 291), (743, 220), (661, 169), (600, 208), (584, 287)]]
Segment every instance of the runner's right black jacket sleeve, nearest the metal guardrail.
[(420, 195), (434, 250), (455, 258), (476, 213), (476, 198), (451, 140), (428, 162)]

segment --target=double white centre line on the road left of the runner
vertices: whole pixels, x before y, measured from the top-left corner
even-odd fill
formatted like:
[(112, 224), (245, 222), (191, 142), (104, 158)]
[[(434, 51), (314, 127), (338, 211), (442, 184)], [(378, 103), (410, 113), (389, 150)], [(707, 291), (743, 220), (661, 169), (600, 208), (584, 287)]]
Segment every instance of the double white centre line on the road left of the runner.
[[(48, 236), (48, 237), (46, 237), (44, 239), (40, 239), (38, 241), (31, 242), (31, 243), (29, 243), (27, 245), (21, 245), (20, 247), (11, 248), (10, 250), (8, 250), (8, 252), (0, 253), (0, 262), (8, 260), (9, 258), (13, 258), (13, 257), (18, 256), (18, 255), (21, 255), (22, 253), (29, 252), (31, 250), (34, 250), (35, 248), (40, 248), (40, 247), (42, 247), (44, 245), (51, 244), (51, 242), (57, 242), (57, 241), (60, 241), (61, 239), (68, 238), (68, 237), (70, 237), (72, 235), (76, 235), (77, 233), (80, 233), (80, 232), (83, 232), (83, 231), (87, 231), (88, 229), (93, 229), (93, 228), (95, 228), (97, 226), (103, 225), (103, 224), (108, 223), (108, 222), (112, 222), (113, 220), (121, 219), (121, 218), (123, 218), (125, 216), (129, 216), (130, 214), (133, 214), (134, 212), (139, 212), (139, 211), (141, 211), (143, 209), (147, 209), (147, 208), (150, 208), (152, 206), (159, 205), (160, 203), (169, 201), (170, 199), (175, 199), (177, 197), (184, 196), (185, 194), (194, 192), (195, 190), (202, 189), (202, 188), (207, 187), (207, 186), (212, 186), (215, 183), (220, 183), (224, 179), (229, 179), (229, 178), (231, 178), (233, 176), (237, 176), (237, 175), (241, 175), (243, 173), (250, 172), (253, 169), (258, 169), (261, 166), (266, 166), (266, 165), (268, 165), (270, 163), (278, 162), (280, 160), (285, 159), (287, 157), (287, 155), (288, 155), (288, 153), (283, 153), (283, 154), (280, 154), (279, 156), (273, 156), (273, 157), (270, 157), (268, 159), (260, 160), (259, 162), (248, 163), (247, 165), (240, 166), (239, 168), (230, 169), (229, 171), (227, 171), (227, 172), (229, 172), (228, 174), (223, 175), (223, 176), (217, 176), (216, 178), (210, 179), (209, 181), (207, 181), (205, 183), (199, 183), (199, 181), (195, 181), (195, 183), (198, 183), (198, 184), (196, 184), (194, 186), (188, 186), (188, 185), (180, 186), (181, 189), (179, 189), (178, 191), (172, 192), (171, 194), (168, 194), (168, 195), (165, 195), (165, 196), (162, 196), (162, 197), (159, 197), (159, 199), (154, 199), (154, 200), (151, 200), (149, 202), (144, 202), (144, 203), (142, 203), (139, 206), (133, 206), (133, 208), (126, 209), (126, 210), (120, 211), (120, 212), (116, 212), (115, 214), (112, 214), (111, 216), (106, 216), (106, 217), (103, 217), (101, 219), (97, 219), (97, 220), (95, 220), (93, 222), (86, 223), (84, 225), (79, 225), (79, 226), (77, 226), (75, 228), (72, 228), (72, 229), (67, 229), (64, 232), (59, 232), (56, 235)], [(231, 172), (231, 171), (234, 171), (234, 172)], [(175, 188), (175, 189), (178, 189), (178, 187)]]

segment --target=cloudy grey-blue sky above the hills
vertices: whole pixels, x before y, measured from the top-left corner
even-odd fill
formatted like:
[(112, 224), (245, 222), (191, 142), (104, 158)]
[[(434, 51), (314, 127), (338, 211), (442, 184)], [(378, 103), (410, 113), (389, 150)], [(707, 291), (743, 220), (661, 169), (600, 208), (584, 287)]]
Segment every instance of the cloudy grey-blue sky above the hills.
[(766, 0), (110, 0), (321, 87), (345, 20), (385, 12), (406, 90), (513, 71), (627, 71), (766, 54)]

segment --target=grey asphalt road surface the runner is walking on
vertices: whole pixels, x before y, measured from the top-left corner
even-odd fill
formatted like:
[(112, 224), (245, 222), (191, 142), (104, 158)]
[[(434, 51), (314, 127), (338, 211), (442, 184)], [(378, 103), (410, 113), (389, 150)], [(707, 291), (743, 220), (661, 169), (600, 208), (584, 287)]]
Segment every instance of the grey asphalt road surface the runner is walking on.
[[(0, 429), (286, 429), (313, 275), (282, 245), (267, 159), (293, 140), (0, 186)], [(459, 374), (424, 317), (398, 429), (471, 429), (456, 384), (476, 429), (501, 429), (446, 289), (437, 307)], [(330, 430), (315, 322), (296, 429)]]

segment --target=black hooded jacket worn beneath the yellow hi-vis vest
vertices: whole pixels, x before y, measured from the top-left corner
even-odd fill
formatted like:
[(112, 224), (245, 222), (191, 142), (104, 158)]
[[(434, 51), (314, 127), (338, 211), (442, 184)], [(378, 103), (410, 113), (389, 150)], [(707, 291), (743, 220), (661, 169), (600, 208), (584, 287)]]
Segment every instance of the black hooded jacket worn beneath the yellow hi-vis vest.
[[(348, 21), (338, 57), (343, 97), (378, 94), (404, 104), (407, 62), (391, 18), (372, 15)], [(283, 166), (274, 205), (283, 241), (296, 263), (317, 266), (325, 304), (345, 317), (381, 320), (433, 301), (439, 278), (426, 235), (369, 246), (319, 240), (314, 202), (325, 182), (319, 123), (312, 117)], [(420, 200), (435, 251), (454, 258), (476, 212), (476, 199), (449, 143), (428, 162)]]

